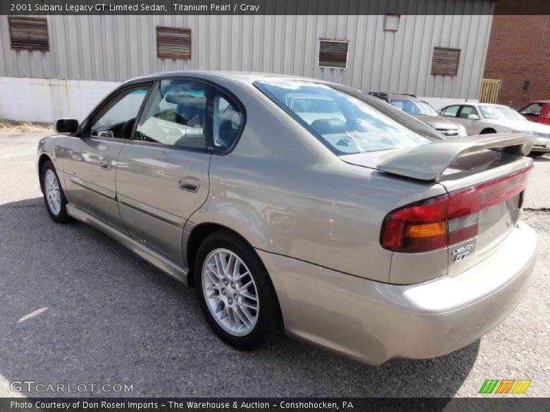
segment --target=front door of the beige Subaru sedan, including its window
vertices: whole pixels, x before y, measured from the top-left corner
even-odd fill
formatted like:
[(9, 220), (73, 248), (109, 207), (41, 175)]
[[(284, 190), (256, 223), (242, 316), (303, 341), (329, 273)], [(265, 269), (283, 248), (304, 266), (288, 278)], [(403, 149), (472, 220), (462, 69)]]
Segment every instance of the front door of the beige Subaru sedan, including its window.
[(133, 121), (151, 84), (123, 89), (91, 115), (63, 161), (69, 203), (122, 231), (116, 201), (116, 159), (129, 141)]

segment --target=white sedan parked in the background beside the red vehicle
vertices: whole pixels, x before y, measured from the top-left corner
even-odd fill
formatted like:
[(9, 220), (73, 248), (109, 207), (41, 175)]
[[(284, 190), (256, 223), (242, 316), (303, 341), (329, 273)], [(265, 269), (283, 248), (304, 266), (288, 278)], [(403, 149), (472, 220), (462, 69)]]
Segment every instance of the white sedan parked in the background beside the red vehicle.
[(513, 108), (500, 104), (465, 103), (452, 104), (439, 110), (444, 117), (452, 117), (466, 128), (468, 135), (487, 133), (523, 133), (538, 137), (531, 153), (542, 155), (550, 152), (550, 126), (529, 122)]

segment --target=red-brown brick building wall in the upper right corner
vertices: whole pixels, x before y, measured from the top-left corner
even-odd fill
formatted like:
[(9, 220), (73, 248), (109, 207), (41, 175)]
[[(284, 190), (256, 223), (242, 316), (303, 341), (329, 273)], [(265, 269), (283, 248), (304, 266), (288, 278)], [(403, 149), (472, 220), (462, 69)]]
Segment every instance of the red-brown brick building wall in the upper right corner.
[(519, 109), (531, 100), (550, 100), (549, 46), (548, 15), (493, 17), (483, 78), (502, 79), (500, 104)]

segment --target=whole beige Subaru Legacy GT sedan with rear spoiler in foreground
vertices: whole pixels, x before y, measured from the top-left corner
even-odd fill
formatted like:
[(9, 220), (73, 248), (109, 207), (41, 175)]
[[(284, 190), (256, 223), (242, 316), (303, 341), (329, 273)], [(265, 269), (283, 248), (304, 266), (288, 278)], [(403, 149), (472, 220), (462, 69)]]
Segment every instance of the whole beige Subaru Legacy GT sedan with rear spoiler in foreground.
[(447, 141), (349, 87), (199, 71), (129, 80), (56, 128), (37, 161), (52, 219), (195, 286), (241, 350), (284, 328), (371, 365), (439, 356), (529, 284), (531, 136)]

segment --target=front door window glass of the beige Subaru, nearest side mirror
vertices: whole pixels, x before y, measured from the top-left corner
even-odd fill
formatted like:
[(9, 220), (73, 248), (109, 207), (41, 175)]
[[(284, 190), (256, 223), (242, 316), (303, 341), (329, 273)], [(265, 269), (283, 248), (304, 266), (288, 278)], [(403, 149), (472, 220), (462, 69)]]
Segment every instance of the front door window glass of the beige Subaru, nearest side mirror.
[(135, 117), (140, 111), (148, 89), (148, 85), (137, 87), (107, 102), (104, 109), (90, 122), (91, 135), (129, 139)]

